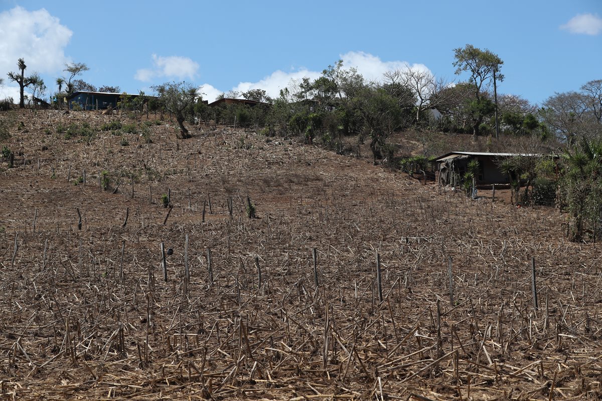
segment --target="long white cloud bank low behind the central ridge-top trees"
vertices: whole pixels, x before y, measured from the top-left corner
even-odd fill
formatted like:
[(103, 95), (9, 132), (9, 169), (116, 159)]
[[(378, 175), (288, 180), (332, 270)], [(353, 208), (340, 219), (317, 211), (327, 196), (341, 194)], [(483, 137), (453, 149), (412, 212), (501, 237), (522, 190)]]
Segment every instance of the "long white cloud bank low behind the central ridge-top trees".
[[(365, 53), (365, 52), (347, 52), (346, 54), (340, 55), (343, 60), (343, 68), (349, 69), (354, 67), (358, 70), (366, 81), (380, 81), (383, 73), (389, 70), (397, 69), (418, 69), (424, 70), (430, 73), (430, 70), (424, 66), (424, 64), (408, 64), (406, 61), (382, 61), (379, 57)], [(235, 85), (232, 90), (238, 92), (245, 92), (250, 89), (263, 89), (269, 96), (278, 97), (280, 90), (288, 87), (291, 82), (299, 82), (304, 77), (309, 79), (316, 79), (321, 76), (321, 71), (311, 71), (308, 69), (299, 69), (293, 72), (284, 72), (277, 70), (272, 74), (266, 76), (258, 82), (240, 82)], [(212, 85), (202, 85), (200, 91), (204, 92), (206, 96), (203, 99), (213, 102), (216, 97), (226, 91), (218, 90)]]

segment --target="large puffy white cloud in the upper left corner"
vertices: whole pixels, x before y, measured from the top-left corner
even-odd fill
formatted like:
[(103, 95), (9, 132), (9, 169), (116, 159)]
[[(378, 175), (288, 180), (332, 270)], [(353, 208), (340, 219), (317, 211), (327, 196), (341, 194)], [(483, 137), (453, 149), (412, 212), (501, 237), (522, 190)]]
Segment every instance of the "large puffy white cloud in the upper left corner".
[[(22, 7), (0, 13), (0, 76), (17, 70), (23, 58), (28, 71), (54, 73), (61, 71), (67, 58), (64, 48), (73, 32), (60, 24), (44, 8), (27, 11)], [(8, 84), (5, 79), (5, 85)], [(7, 88), (5, 87), (4, 90)]]

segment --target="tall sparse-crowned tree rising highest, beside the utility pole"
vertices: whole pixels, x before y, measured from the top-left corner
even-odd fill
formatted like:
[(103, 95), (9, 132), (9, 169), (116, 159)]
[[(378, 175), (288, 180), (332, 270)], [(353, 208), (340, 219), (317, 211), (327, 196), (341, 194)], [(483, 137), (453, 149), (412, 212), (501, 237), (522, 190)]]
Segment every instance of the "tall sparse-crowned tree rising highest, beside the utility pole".
[[(474, 47), (472, 44), (467, 44), (465, 47), (458, 47), (454, 49), (454, 61), (453, 66), (456, 67), (456, 75), (460, 75), (462, 72), (468, 72), (470, 77), (468, 82), (474, 85), (474, 96), (477, 101), (481, 100), (481, 93), (483, 85), (489, 81), (493, 81), (494, 84), (494, 112), (496, 119), (496, 132), (497, 132), (497, 81), (503, 81), (504, 76), (499, 73), (499, 70), (504, 64), (497, 54), (492, 53), (488, 49), (482, 51), (478, 47)], [(479, 106), (482, 108), (482, 105)], [(479, 135), (479, 121), (474, 121), (473, 124), (473, 138), (476, 140)]]

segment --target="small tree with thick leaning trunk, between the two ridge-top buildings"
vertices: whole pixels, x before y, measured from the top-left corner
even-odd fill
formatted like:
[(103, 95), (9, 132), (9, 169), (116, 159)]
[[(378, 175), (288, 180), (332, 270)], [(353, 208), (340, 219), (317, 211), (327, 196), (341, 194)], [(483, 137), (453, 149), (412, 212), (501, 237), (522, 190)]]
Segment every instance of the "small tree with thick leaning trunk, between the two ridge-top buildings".
[(184, 121), (191, 112), (194, 112), (194, 102), (199, 96), (197, 87), (187, 82), (166, 82), (163, 85), (152, 87), (152, 89), (158, 94), (164, 107), (176, 117), (182, 139), (192, 138), (184, 126)]

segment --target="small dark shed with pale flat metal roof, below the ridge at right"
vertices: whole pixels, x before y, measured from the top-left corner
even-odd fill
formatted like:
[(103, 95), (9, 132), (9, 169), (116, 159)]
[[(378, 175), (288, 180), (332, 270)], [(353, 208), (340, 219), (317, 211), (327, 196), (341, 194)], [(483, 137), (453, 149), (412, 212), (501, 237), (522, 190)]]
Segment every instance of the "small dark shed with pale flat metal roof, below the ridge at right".
[(436, 177), (439, 186), (459, 185), (455, 179), (461, 179), (467, 171), (468, 162), (479, 162), (477, 185), (509, 184), (510, 177), (500, 169), (501, 161), (512, 156), (539, 156), (521, 153), (486, 153), (486, 152), (450, 152), (435, 159)]

